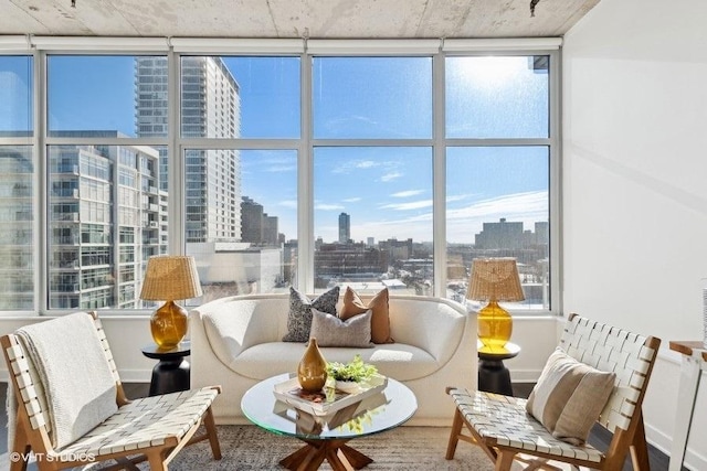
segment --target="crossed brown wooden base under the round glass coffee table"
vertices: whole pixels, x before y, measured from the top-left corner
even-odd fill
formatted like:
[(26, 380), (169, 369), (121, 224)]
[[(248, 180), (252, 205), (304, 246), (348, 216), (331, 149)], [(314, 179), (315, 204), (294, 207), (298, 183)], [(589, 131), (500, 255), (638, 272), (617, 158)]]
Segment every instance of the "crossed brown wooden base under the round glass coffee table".
[(279, 464), (291, 471), (314, 471), (327, 460), (334, 471), (354, 471), (373, 462), (372, 459), (345, 445), (348, 440), (303, 440), (307, 445), (283, 458)]

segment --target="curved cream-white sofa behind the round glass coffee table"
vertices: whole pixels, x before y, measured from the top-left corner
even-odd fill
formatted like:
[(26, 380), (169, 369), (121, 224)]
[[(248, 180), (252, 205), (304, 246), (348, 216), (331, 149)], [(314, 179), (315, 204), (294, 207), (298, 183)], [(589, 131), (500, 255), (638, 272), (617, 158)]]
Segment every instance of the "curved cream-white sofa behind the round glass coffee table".
[[(288, 309), (287, 293), (249, 295), (190, 312), (191, 387), (222, 386), (213, 403), (218, 424), (247, 424), (243, 394), (262, 379), (296, 371), (306, 344), (282, 342)], [(476, 314), (454, 301), (414, 296), (390, 296), (389, 309), (395, 343), (320, 347), (321, 353), (336, 362), (359, 353), (381, 374), (410, 387), (418, 411), (408, 425), (450, 426), (454, 406), (445, 387), (476, 388)]]

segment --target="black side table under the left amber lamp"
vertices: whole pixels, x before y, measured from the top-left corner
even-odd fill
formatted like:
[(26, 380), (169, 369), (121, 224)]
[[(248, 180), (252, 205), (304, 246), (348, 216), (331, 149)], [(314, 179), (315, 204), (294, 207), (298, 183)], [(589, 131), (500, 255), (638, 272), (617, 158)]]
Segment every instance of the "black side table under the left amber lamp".
[(150, 396), (189, 389), (189, 362), (184, 358), (191, 354), (188, 341), (171, 350), (160, 350), (156, 344), (146, 345), (143, 354), (148, 358), (159, 360), (152, 368)]

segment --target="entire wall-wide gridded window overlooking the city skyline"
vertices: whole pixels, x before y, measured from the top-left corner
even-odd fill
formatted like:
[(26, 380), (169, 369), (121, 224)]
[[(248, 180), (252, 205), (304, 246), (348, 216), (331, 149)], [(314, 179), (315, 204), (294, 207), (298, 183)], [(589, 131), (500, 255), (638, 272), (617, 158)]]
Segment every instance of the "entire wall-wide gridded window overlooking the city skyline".
[(511, 256), (510, 308), (553, 308), (551, 46), (176, 44), (0, 52), (0, 310), (144, 309), (160, 254), (196, 257), (190, 304), (334, 285), (463, 301), (473, 258)]

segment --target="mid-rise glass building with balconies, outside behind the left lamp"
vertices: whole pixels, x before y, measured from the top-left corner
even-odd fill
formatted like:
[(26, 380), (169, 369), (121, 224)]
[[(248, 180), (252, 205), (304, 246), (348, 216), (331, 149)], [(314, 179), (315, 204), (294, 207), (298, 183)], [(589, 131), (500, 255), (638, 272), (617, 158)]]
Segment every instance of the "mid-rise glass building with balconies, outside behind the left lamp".
[(158, 160), (144, 146), (49, 148), (50, 308), (139, 307), (147, 259), (167, 249)]

